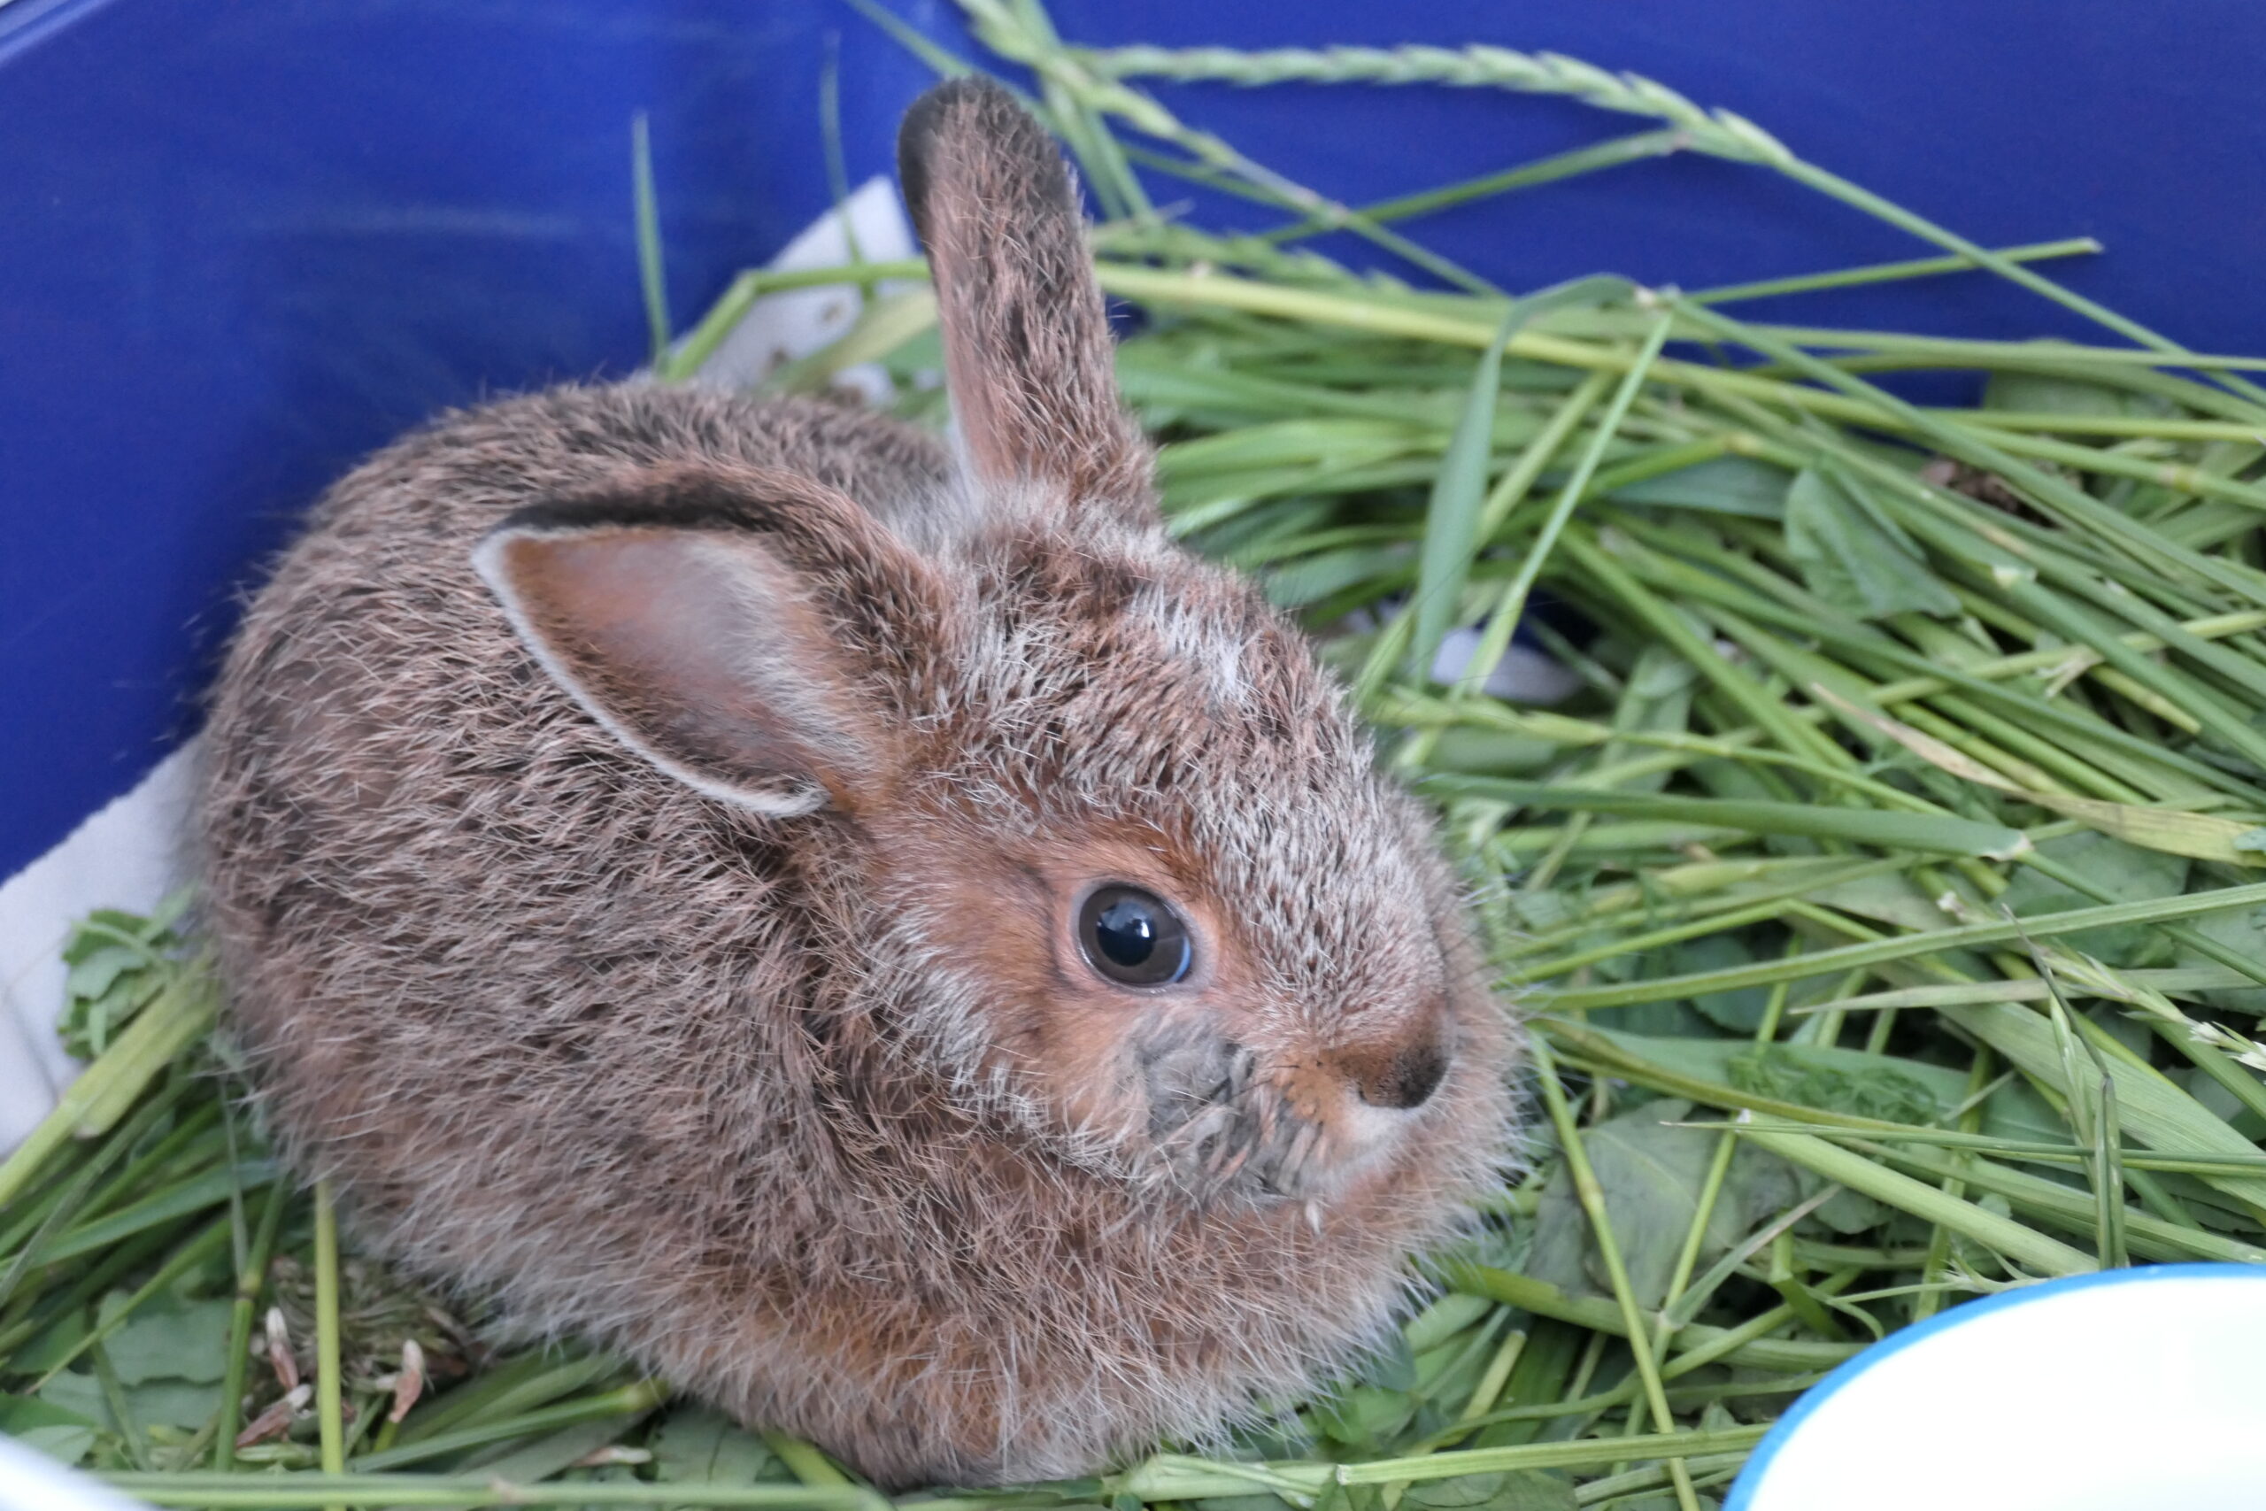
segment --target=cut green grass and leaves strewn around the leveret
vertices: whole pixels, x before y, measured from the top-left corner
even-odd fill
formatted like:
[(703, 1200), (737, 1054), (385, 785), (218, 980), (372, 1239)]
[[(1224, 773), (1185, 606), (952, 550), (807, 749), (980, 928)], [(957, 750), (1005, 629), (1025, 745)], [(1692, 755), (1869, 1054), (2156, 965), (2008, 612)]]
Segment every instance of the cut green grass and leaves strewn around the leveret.
[[(2266, 360), (2039, 272), (2087, 242), (1976, 247), (1645, 79), (1489, 48), (1088, 52), (1036, 0), (961, 5), (1101, 202), (1174, 532), (1321, 637), (1380, 759), (1437, 800), (1536, 1096), (1484, 1239), (1280, 1439), (911, 1502), (1693, 1511), (1797, 1391), (1967, 1296), (2266, 1260)], [(1142, 79), (1539, 91), (1641, 129), (1348, 208)], [(1666, 152), (1788, 174), (1937, 256), (1511, 299), (1396, 229)], [(1172, 174), (1276, 224), (1160, 213)], [(650, 229), (646, 179), (639, 202)], [(1321, 231), (1428, 288), (1301, 245)], [(1729, 313), (1956, 272), (2103, 342)], [(838, 279), (743, 276), (664, 378), (759, 294)], [(768, 387), (859, 362), (943, 417), (913, 381), (938, 365), (918, 283)], [(1987, 383), (1922, 408), (1876, 385), (1906, 369)], [(1573, 691), (1491, 695), (1507, 648)], [(93, 1062), (0, 1167), (0, 1427), (184, 1506), (879, 1504), (612, 1359), (496, 1357), (476, 1316), (340, 1257), (322, 1192), (279, 1183), (231, 1108), (211, 1022), (170, 920), (73, 942)]]

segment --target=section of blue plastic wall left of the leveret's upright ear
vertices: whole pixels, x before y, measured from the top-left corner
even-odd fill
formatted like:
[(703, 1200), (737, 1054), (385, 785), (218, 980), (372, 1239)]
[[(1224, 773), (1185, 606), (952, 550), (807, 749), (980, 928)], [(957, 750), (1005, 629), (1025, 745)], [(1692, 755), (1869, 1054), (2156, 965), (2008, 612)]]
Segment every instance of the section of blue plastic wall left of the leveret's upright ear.
[(641, 360), (637, 111), (680, 317), (825, 211), (836, 34), (870, 174), (929, 75), (834, 0), (0, 9), (0, 877), (195, 727), (356, 455)]

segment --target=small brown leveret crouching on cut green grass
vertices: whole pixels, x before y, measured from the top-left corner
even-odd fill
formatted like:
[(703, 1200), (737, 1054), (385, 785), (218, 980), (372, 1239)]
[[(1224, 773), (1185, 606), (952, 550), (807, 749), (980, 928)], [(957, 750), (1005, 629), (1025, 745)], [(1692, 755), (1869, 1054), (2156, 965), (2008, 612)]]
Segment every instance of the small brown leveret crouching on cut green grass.
[(959, 449), (632, 385), (378, 453), (227, 659), (206, 897), (369, 1250), (884, 1486), (1079, 1475), (1382, 1337), (1514, 1033), (1165, 537), (1054, 145), (963, 79), (900, 156)]

